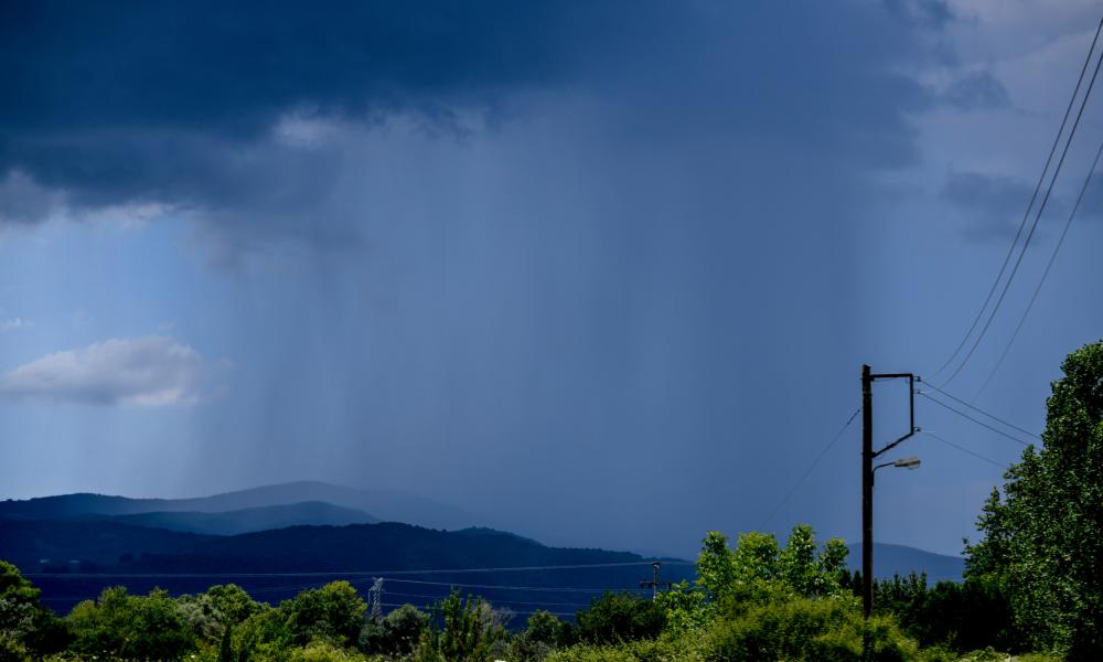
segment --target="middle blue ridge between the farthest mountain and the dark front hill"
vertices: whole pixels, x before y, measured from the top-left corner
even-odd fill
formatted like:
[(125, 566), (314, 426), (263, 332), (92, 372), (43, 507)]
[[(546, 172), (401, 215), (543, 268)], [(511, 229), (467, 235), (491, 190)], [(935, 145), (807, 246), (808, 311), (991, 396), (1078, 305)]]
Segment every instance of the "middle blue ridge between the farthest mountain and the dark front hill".
[(119, 524), (151, 526), (188, 533), (212, 535), (237, 535), (269, 528), (285, 528), (304, 524), (374, 524), (378, 522), (364, 511), (341, 508), (322, 501), (306, 501), (289, 505), (247, 508), (221, 513), (197, 511), (160, 511), (132, 515), (84, 514), (73, 517), (79, 521), (113, 521)]

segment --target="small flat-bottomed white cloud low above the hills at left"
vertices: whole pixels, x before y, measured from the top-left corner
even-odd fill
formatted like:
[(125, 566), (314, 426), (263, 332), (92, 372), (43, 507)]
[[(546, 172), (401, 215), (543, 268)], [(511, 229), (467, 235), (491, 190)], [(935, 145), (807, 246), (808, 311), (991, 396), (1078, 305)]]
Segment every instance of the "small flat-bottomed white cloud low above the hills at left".
[(0, 396), (94, 405), (194, 403), (203, 357), (165, 335), (110, 339), (47, 354), (0, 376)]

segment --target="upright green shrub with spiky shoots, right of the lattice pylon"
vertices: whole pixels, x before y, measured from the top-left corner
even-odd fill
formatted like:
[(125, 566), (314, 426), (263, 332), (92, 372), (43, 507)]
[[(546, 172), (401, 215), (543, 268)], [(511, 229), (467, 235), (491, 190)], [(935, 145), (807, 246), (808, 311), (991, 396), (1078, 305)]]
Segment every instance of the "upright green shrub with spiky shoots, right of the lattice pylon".
[(415, 656), (424, 662), (484, 662), (504, 638), (505, 628), (486, 601), (463, 599), (453, 590), (433, 606)]

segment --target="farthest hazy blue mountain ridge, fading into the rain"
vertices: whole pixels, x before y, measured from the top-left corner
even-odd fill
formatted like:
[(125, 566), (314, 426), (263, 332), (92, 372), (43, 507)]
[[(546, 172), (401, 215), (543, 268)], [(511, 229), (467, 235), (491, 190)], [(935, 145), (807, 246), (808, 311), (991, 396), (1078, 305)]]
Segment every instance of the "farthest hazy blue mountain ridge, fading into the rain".
[(0, 501), (0, 517), (68, 520), (82, 515), (222, 513), (303, 502), (330, 503), (371, 513), (379, 521), (406, 522), (433, 528), (454, 530), (482, 523), (460, 509), (416, 494), (393, 490), (346, 488), (318, 481), (265, 485), (197, 499), (128, 499), (88, 493), (42, 496), (25, 501), (9, 499)]

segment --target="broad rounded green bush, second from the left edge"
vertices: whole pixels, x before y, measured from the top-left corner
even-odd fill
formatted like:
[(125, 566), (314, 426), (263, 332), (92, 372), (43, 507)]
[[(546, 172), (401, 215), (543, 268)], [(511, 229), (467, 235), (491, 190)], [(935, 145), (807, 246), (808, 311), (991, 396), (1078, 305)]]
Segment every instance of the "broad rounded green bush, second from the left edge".
[(66, 619), (75, 637), (73, 649), (87, 655), (180, 660), (195, 649), (195, 637), (168, 592), (153, 589), (131, 596), (124, 587), (105, 589)]

